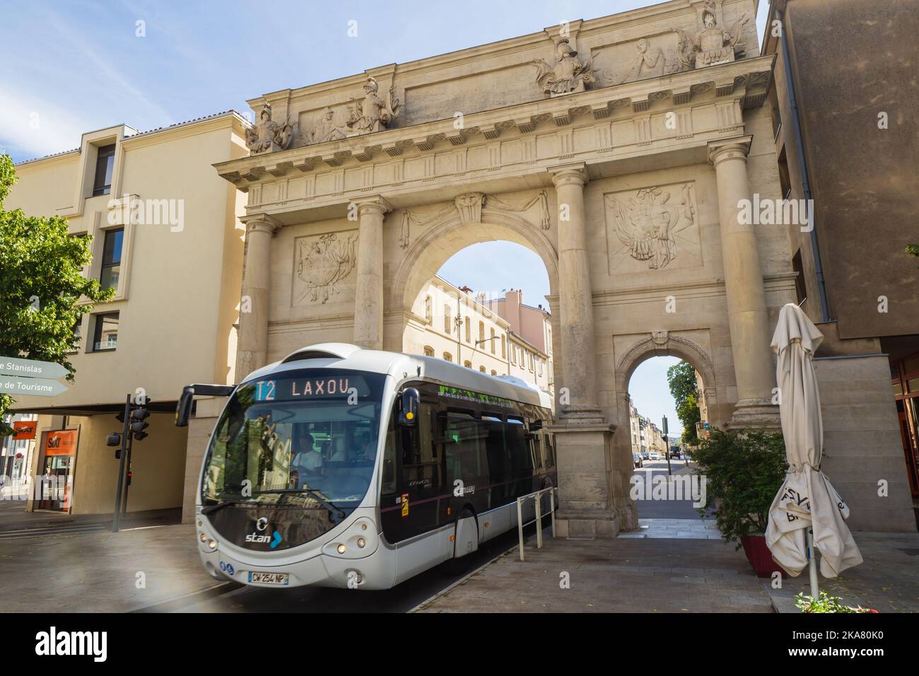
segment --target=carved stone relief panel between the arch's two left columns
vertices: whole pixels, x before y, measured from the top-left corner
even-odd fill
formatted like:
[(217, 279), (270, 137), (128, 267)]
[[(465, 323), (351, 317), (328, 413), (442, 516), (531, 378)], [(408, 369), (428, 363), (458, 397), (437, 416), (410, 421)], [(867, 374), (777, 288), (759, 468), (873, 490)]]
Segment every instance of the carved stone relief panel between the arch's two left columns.
[(325, 303), (357, 263), (357, 233), (298, 237), (294, 244), (292, 304)]

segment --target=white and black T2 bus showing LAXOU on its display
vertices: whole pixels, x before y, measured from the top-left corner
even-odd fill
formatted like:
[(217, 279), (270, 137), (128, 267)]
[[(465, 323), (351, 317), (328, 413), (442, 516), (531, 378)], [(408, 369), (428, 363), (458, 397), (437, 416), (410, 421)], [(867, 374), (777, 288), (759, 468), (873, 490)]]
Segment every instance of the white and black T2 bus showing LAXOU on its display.
[(229, 396), (196, 509), (215, 579), (388, 589), (516, 528), (516, 498), (557, 485), (550, 395), (513, 377), (324, 343), (187, 386), (176, 425), (194, 395)]

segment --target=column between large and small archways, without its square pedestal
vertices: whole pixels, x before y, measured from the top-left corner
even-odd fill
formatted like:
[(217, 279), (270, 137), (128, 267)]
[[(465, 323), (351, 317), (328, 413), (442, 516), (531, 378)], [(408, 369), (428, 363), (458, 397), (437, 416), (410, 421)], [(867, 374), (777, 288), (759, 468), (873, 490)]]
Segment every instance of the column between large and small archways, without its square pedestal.
[(559, 304), (564, 364), (562, 384), (570, 395), (570, 403), (562, 405), (562, 417), (599, 415), (594, 301), (584, 220), (586, 182), (584, 165), (565, 166), (552, 173), (559, 204)]

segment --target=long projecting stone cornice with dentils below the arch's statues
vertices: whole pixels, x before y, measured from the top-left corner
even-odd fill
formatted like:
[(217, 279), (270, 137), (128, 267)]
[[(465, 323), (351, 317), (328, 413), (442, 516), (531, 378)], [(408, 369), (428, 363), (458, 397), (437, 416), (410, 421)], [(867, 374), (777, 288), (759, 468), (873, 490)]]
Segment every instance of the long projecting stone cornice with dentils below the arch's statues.
[[(221, 177), (241, 189), (266, 178), (311, 173), (328, 167), (379, 164), (416, 148), (419, 153), (435, 150), (448, 141), (452, 146), (471, 140), (498, 139), (502, 132), (516, 129), (521, 134), (533, 132), (538, 125), (545, 130), (566, 127), (573, 119), (592, 116), (595, 120), (634, 118), (652, 109), (676, 109), (705, 97), (712, 89), (715, 101), (739, 100), (742, 108), (758, 106), (766, 97), (775, 56), (755, 57), (723, 63), (683, 73), (637, 80), (618, 86), (516, 104), (502, 109), (485, 110), (467, 115), (464, 128), (456, 129), (455, 120), (435, 120), (414, 125), (354, 136), (341, 141), (315, 143), (265, 155), (253, 155), (215, 165)], [(626, 109), (621, 115), (617, 110)], [(630, 109), (630, 110), (629, 110)], [(446, 143), (444, 143), (446, 144)]]

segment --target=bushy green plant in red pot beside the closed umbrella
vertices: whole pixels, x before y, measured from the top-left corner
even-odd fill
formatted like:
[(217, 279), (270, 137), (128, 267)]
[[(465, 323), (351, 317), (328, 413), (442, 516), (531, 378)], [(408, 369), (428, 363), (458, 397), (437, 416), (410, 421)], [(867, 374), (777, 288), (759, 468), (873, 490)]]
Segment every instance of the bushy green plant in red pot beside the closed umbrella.
[[(694, 454), (696, 474), (706, 479), (709, 500), (716, 502), (715, 518), (726, 542), (743, 546), (756, 575), (787, 574), (766, 546), (769, 507), (785, 480), (788, 463), (781, 432), (710, 430)], [(699, 510), (704, 515), (704, 509)]]

